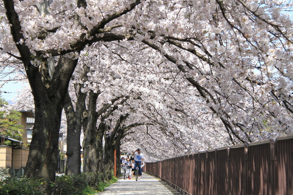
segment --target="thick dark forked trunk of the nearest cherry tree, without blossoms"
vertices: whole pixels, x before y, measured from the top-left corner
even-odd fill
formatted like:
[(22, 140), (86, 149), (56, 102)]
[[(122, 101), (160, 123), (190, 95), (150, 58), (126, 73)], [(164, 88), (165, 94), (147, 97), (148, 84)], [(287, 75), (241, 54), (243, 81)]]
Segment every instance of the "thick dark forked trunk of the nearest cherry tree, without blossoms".
[[(59, 156), (59, 129), (64, 99), (77, 60), (60, 57), (50, 87), (39, 72), (28, 71), (35, 100), (35, 125), (25, 175), (54, 182)], [(30, 67), (31, 68), (31, 67)], [(48, 182), (47, 194), (50, 194)]]

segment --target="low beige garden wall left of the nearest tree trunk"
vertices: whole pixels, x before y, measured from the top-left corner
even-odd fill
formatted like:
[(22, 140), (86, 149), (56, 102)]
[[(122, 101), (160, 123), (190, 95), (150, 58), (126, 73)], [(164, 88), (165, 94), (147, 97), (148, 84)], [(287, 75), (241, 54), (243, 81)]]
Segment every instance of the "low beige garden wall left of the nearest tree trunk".
[(28, 149), (0, 146), (0, 167), (20, 169), (28, 162)]

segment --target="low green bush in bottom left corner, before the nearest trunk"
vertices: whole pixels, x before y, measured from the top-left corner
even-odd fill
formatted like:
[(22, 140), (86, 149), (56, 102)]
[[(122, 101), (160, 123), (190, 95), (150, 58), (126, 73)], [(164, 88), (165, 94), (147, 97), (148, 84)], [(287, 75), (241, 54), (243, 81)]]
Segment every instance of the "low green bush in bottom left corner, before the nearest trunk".
[(7, 177), (0, 181), (0, 195), (41, 195), (43, 194), (44, 185), (41, 180), (32, 178), (11, 178)]

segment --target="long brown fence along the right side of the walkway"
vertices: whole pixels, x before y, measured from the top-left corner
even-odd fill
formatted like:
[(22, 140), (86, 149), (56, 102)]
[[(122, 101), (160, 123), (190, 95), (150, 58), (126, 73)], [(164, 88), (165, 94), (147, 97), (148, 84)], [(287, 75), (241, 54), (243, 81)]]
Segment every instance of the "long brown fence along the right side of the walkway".
[(292, 195), (293, 135), (146, 163), (144, 172), (182, 194)]

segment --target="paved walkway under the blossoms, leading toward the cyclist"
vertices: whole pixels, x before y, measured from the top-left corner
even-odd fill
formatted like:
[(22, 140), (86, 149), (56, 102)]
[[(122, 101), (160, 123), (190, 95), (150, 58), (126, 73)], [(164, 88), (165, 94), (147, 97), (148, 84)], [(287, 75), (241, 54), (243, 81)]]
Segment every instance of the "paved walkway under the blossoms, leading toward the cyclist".
[(120, 179), (96, 195), (178, 195), (179, 193), (158, 178), (142, 173), (140, 180)]

